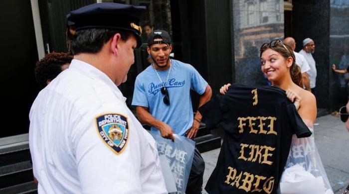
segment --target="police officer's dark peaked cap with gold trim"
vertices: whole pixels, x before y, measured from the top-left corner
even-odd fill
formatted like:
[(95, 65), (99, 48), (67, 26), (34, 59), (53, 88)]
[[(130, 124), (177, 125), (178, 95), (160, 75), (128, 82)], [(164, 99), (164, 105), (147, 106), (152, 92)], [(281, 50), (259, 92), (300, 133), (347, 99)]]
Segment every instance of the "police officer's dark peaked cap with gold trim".
[(145, 6), (102, 2), (83, 6), (70, 11), (67, 17), (68, 26), (76, 31), (88, 28), (117, 29), (132, 31), (137, 37), (137, 47), (142, 45), (142, 27), (139, 25)]

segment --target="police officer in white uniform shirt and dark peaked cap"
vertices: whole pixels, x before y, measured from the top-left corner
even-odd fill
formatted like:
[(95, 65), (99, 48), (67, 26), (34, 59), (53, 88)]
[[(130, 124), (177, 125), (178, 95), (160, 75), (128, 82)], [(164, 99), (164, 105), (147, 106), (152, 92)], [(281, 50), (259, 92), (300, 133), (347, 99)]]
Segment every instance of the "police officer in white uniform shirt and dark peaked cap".
[(38, 193), (167, 193), (156, 143), (117, 87), (141, 45), (144, 9), (96, 3), (67, 15), (74, 59), (29, 114)]

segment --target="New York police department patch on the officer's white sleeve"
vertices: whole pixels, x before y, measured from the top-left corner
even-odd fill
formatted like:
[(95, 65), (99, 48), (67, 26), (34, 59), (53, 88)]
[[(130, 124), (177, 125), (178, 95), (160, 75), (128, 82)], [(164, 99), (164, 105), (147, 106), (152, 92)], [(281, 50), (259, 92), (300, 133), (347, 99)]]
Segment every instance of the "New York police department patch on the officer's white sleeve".
[(130, 136), (127, 117), (118, 113), (108, 113), (96, 117), (98, 134), (116, 154), (126, 147)]

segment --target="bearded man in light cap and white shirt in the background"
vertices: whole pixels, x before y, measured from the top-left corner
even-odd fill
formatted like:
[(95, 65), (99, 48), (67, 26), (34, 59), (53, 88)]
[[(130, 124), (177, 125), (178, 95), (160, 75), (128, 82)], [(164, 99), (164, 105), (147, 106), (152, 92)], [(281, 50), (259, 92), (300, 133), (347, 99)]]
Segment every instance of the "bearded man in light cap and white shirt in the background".
[(303, 49), (299, 51), (299, 54), (303, 55), (304, 58), (307, 60), (308, 65), (310, 67), (310, 70), (307, 72), (309, 75), (309, 81), (310, 81), (310, 89), (312, 93), (316, 96), (316, 76), (317, 76), (317, 70), (316, 70), (316, 63), (313, 58), (312, 53), (315, 52), (315, 43), (312, 39), (306, 38), (303, 40)]

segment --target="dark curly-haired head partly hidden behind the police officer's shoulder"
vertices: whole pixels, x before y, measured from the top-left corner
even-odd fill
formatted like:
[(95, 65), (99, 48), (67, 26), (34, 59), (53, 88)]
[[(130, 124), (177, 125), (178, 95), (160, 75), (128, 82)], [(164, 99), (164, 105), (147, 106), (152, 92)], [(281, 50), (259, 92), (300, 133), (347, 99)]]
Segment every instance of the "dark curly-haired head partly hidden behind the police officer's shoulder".
[(63, 70), (66, 70), (73, 56), (68, 53), (48, 53), (35, 64), (35, 79), (40, 89), (45, 88)]

